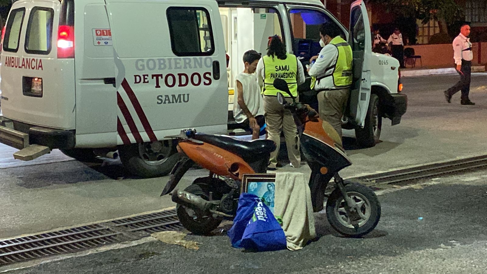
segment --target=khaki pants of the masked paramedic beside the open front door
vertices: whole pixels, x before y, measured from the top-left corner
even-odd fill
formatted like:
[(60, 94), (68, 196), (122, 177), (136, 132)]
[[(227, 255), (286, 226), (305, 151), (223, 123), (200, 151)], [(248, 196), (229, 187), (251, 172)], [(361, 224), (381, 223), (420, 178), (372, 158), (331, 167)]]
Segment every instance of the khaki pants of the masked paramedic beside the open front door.
[(341, 117), (347, 107), (350, 89), (326, 90), (318, 93), (319, 118), (327, 121), (337, 131), (340, 139)]

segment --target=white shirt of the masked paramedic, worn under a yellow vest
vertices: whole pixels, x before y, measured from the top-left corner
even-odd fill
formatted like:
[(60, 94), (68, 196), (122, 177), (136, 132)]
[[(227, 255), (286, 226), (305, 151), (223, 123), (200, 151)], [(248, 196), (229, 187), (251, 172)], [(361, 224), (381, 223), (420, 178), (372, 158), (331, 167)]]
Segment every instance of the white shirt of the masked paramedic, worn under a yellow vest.
[[(337, 59), (338, 48), (333, 44), (327, 44), (319, 52), (318, 59), (308, 72), (309, 76), (319, 78), (333, 74)], [(329, 76), (316, 81), (315, 90), (322, 89), (343, 89), (343, 87), (336, 87), (333, 83), (333, 77)]]

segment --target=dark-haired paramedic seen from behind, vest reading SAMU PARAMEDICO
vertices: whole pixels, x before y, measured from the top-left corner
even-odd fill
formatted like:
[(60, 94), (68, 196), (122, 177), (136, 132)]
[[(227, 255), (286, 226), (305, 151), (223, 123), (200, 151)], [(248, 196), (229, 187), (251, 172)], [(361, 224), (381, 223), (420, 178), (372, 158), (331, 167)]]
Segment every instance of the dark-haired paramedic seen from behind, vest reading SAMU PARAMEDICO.
[[(286, 53), (286, 47), (277, 35), (271, 38), (267, 55), (263, 56), (257, 64), (257, 78), (264, 97), (267, 136), (277, 144), (276, 150), (271, 153), (267, 169), (276, 170), (282, 131), (286, 138), (287, 155), (291, 166), (299, 168), (301, 156), (298, 130), (291, 112), (284, 109), (279, 103), (278, 90), (274, 88), (273, 83), (277, 78), (285, 80), (291, 94), (298, 98), (298, 85), (304, 83), (305, 80), (304, 69), (296, 56)], [(283, 95), (289, 98), (289, 95)]]

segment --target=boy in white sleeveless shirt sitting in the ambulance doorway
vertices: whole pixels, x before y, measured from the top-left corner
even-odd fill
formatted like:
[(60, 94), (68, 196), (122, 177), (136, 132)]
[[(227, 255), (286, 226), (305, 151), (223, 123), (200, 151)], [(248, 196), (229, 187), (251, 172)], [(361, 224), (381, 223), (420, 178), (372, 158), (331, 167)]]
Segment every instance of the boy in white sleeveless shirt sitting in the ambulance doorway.
[(244, 53), (245, 69), (235, 77), (237, 92), (233, 99), (233, 117), (239, 127), (252, 132), (252, 140), (258, 139), (265, 124), (264, 103), (255, 75), (261, 55), (255, 50)]

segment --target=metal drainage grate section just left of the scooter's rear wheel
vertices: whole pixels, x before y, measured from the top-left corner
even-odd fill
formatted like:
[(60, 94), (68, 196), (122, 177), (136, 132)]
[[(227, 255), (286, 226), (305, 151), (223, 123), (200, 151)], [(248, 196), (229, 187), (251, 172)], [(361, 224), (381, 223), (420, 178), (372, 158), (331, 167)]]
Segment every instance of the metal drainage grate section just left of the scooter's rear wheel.
[(163, 231), (180, 231), (184, 227), (176, 216), (176, 210), (168, 210), (147, 215), (114, 220), (112, 225), (130, 232), (143, 232), (143, 235)]

